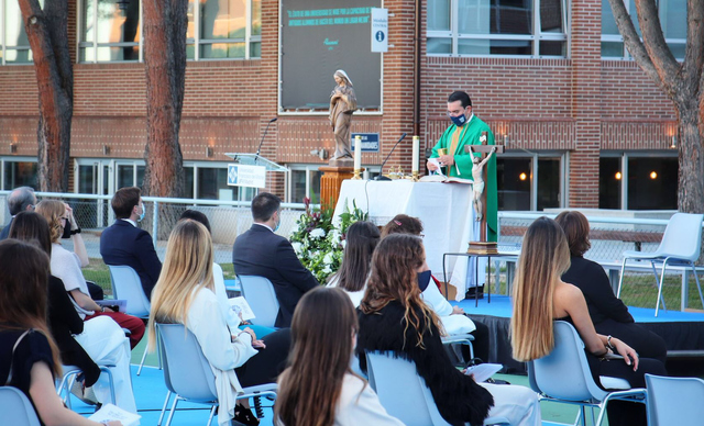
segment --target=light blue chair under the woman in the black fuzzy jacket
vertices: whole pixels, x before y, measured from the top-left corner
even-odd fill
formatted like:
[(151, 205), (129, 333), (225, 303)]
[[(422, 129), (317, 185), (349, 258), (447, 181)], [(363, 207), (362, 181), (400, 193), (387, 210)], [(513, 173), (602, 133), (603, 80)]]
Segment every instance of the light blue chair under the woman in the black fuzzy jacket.
[[(416, 371), (416, 363), (394, 358), (394, 352), (366, 352), (370, 385), (386, 412), (406, 426), (450, 426), (425, 381)], [(488, 417), (484, 425), (508, 425), (503, 417)]]

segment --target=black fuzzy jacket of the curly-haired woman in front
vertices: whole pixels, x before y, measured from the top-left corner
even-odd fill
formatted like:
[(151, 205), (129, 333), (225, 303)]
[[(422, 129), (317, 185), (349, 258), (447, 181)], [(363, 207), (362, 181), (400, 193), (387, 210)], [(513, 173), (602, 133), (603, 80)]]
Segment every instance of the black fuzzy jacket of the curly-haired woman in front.
[[(435, 325), (430, 324), (430, 329), (422, 334), (424, 347), (417, 346), (417, 329), (413, 326), (406, 329), (404, 313), (404, 306), (397, 301), (389, 302), (375, 314), (359, 313), (356, 354), (362, 371), (366, 371), (365, 350), (393, 350), (399, 357), (416, 362), (418, 375), (424, 378), (438, 411), (448, 423), (482, 425), (494, 405), (492, 394), (452, 367)], [(416, 313), (420, 318), (419, 328), (425, 329), (422, 313), (420, 310)]]

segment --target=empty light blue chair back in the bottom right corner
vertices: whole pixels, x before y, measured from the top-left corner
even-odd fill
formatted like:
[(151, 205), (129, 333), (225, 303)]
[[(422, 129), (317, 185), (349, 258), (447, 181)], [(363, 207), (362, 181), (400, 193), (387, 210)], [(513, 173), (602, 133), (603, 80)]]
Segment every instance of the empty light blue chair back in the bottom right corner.
[(704, 418), (704, 380), (646, 374), (648, 425), (696, 425)]

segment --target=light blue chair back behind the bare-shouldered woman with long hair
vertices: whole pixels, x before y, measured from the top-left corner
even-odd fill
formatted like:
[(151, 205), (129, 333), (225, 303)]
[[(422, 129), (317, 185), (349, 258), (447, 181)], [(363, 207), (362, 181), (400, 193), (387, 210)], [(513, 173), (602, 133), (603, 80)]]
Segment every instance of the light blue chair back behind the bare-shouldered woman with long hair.
[(530, 388), (557, 400), (602, 401), (607, 392), (594, 382), (584, 354), (584, 343), (576, 329), (564, 321), (556, 321), (553, 329), (552, 351), (529, 365)]

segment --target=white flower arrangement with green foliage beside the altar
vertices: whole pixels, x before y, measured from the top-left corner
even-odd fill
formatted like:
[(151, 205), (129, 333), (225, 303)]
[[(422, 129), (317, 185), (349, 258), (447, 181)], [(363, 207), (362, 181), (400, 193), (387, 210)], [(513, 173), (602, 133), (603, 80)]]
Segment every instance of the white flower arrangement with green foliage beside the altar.
[[(352, 211), (345, 206), (340, 215), (340, 225), (332, 224), (332, 209), (320, 210), (312, 206), (309, 198), (304, 199), (306, 212), (296, 221), (290, 234), (290, 244), (300, 262), (324, 284), (340, 268), (344, 251), (348, 227), (358, 221), (366, 221), (369, 214), (352, 203)], [(346, 203), (345, 203), (346, 205)]]

